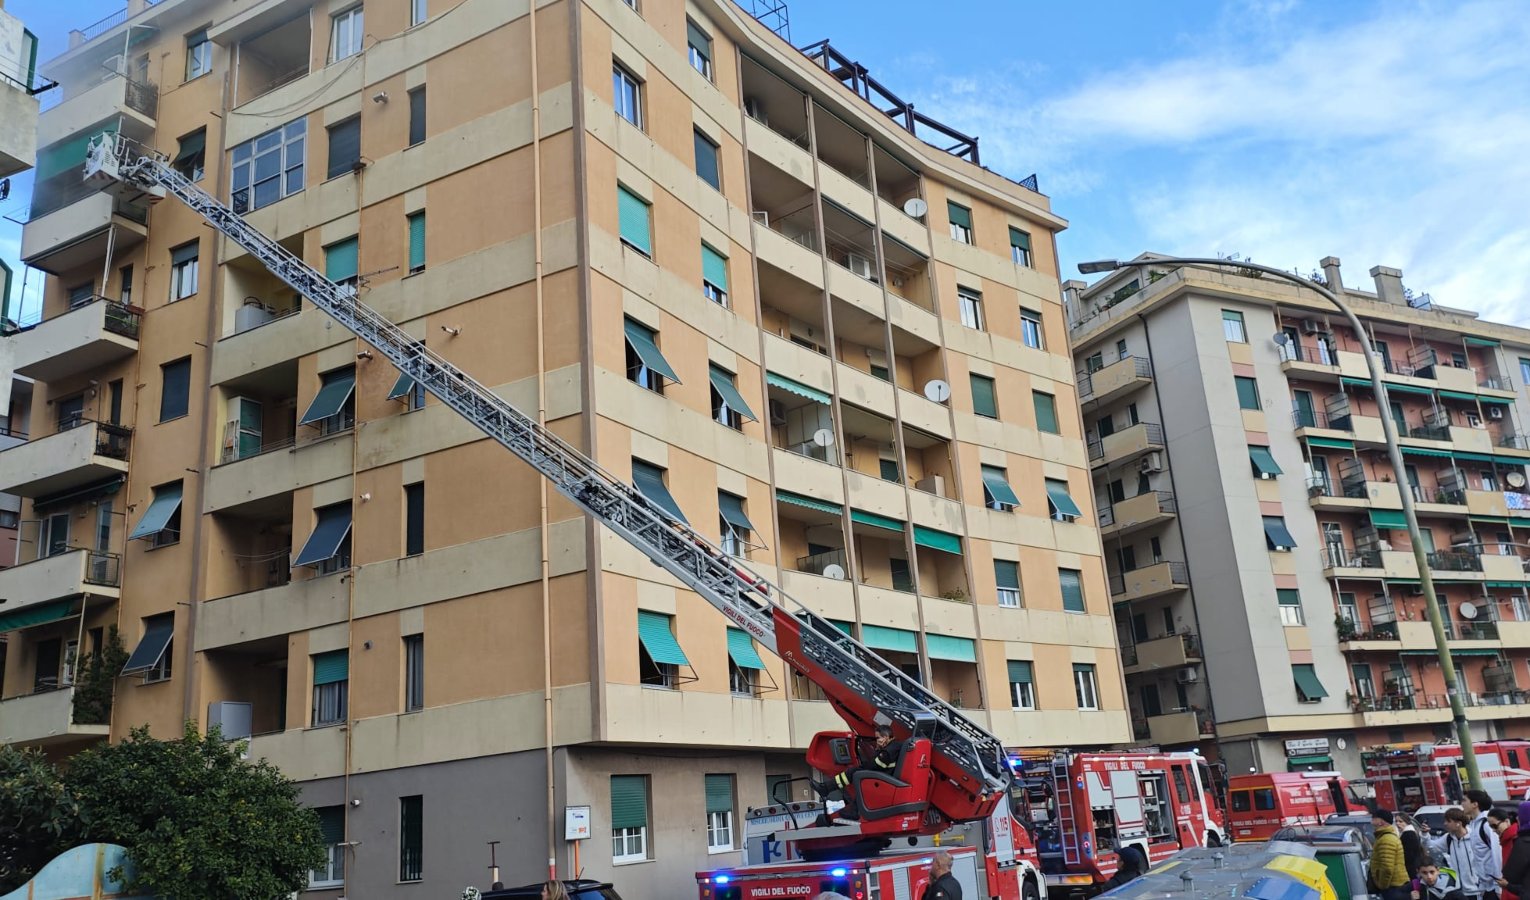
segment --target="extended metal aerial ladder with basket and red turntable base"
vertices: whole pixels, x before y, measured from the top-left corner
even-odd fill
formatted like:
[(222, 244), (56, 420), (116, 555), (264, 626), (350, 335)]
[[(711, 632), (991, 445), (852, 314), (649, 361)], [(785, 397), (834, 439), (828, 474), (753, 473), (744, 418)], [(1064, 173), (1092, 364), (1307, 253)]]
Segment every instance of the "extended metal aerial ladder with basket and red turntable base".
[[(158, 202), (171, 194), (260, 260), (277, 279), (372, 344), (404, 375), (540, 471), (552, 487), (653, 563), (701, 594), (728, 621), (817, 684), (851, 735), (814, 736), (808, 762), (822, 771), (857, 768), (855, 750), (889, 726), (904, 747), (892, 776), (863, 784), (857, 820), (823, 820), (825, 851), (904, 834), (938, 834), (987, 817), (1007, 802), (1013, 773), (1004, 744), (829, 620), (791, 600), (635, 487), (474, 381), (451, 361), (367, 308), (352, 286), (330, 282), (266, 237), (228, 205), (176, 171), (159, 153), (116, 133), (98, 135), (86, 181), (124, 197)], [(802, 833), (809, 839), (809, 833)]]

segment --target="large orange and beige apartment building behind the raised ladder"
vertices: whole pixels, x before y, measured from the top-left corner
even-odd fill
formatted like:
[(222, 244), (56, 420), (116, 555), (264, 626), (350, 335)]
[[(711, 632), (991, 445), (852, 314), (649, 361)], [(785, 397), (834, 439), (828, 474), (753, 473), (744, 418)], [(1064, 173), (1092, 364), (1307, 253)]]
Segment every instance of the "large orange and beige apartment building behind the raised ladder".
[[(461, 891), (491, 840), (506, 880), (568, 872), (584, 807), (580, 866), (641, 900), (737, 860), (742, 810), (805, 796), (842, 727), (188, 210), (81, 184), (112, 130), (1005, 741), (1128, 739), (1065, 222), (840, 60), (721, 0), (81, 28), (23, 242), (44, 315), (9, 338), (37, 384), (0, 488), (43, 537), (0, 572), (0, 736), (249, 736), (320, 810), (335, 895)], [(70, 666), (113, 626), (83, 718)]]

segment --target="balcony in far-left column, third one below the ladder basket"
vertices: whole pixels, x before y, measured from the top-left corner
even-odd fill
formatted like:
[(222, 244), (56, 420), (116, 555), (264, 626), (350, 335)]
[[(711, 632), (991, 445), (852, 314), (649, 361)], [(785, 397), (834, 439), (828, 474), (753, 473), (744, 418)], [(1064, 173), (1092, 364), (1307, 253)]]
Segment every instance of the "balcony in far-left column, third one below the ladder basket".
[(0, 491), (43, 497), (127, 474), (133, 430), (84, 418), (0, 452)]

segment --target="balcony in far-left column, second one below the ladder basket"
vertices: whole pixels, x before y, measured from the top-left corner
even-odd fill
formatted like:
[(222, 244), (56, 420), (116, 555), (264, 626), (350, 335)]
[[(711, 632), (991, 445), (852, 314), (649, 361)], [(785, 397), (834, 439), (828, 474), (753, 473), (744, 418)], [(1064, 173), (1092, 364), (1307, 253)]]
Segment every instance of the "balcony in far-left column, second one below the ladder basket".
[(141, 312), (106, 297), (90, 297), (69, 309), (21, 324), (12, 338), (15, 373), (60, 381), (138, 352)]

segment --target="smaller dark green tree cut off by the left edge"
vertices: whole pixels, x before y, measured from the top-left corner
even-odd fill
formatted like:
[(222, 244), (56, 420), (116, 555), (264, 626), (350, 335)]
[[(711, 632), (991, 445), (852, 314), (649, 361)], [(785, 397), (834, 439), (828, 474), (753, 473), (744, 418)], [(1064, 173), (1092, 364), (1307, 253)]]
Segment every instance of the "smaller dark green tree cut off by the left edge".
[(80, 805), (37, 750), (0, 745), (0, 894), (24, 885), (80, 837)]

